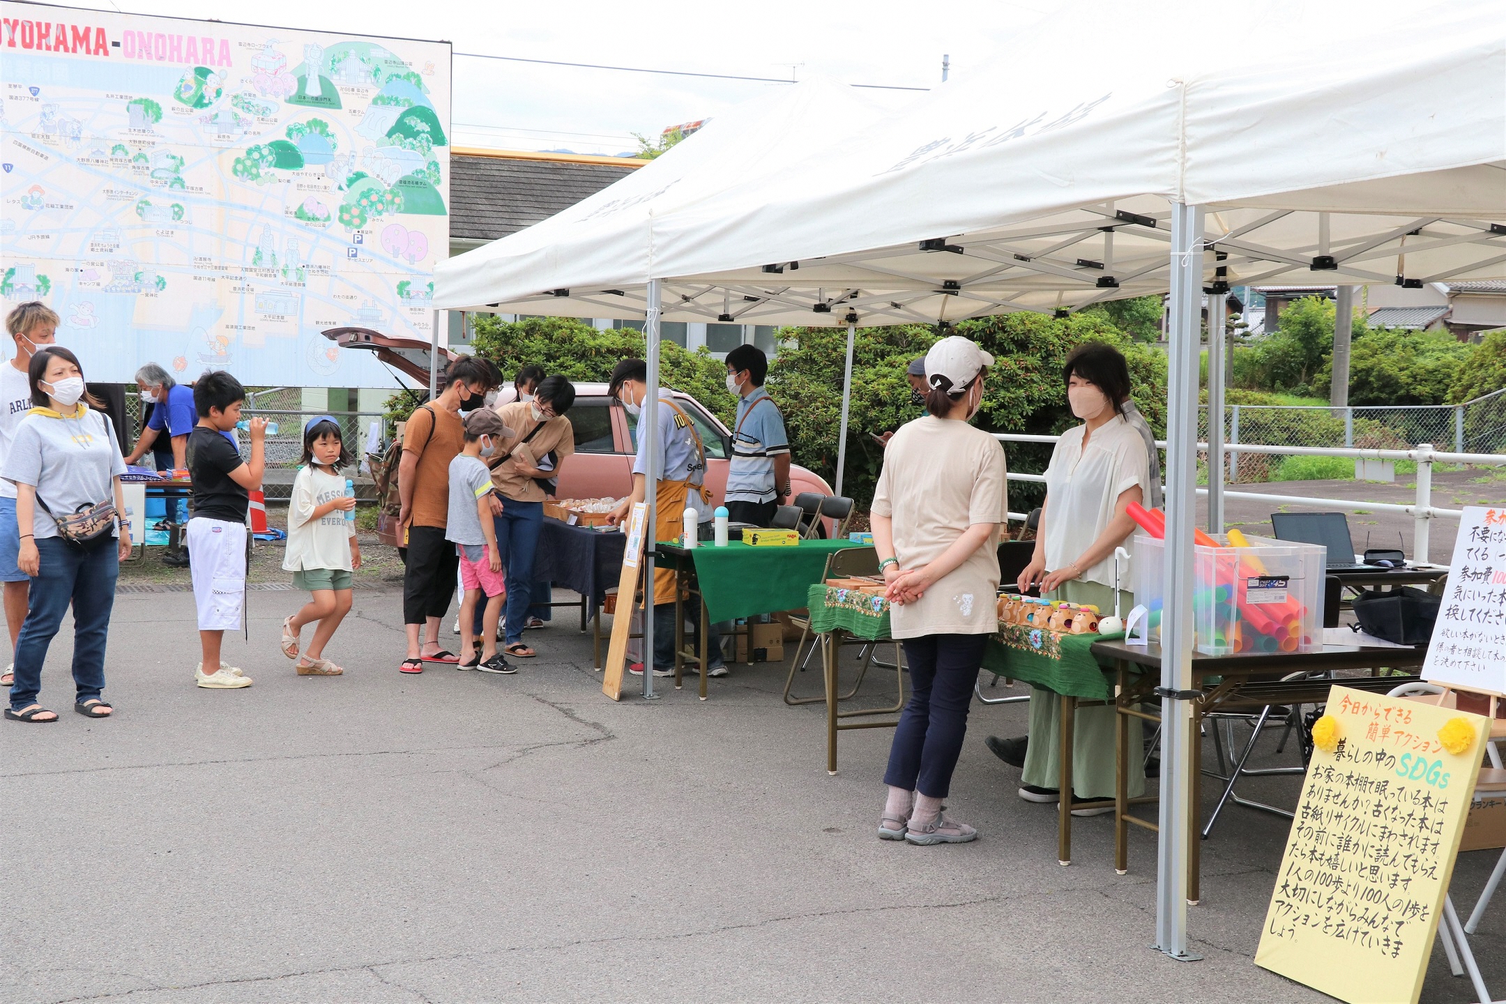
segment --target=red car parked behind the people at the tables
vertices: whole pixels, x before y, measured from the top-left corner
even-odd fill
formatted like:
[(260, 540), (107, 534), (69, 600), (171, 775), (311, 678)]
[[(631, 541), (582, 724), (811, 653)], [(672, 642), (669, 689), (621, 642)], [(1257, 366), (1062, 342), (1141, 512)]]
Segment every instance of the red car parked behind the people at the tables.
[[(503, 400), (511, 397), (509, 387), (503, 391)], [(696, 432), (700, 434), (706, 449), (706, 488), (711, 489), (714, 503), (720, 506), (727, 491), (732, 432), (690, 394), (675, 391), (675, 402), (696, 423)], [(575, 403), (568, 417), (575, 431), (575, 453), (565, 458), (559, 467), (559, 498), (622, 498), (631, 492), (637, 418), (607, 394), (607, 384), (587, 382), (575, 384)], [(387, 464), (381, 467), (389, 468)], [(398, 482), (396, 477), (390, 483), (378, 474), (376, 492), (381, 512), (376, 516), (376, 536), (384, 543), (398, 546)], [(821, 476), (795, 464), (789, 467), (789, 491), (791, 497), (800, 492), (831, 494), (831, 488)], [(822, 522), (818, 533), (830, 534), (831, 521)]]

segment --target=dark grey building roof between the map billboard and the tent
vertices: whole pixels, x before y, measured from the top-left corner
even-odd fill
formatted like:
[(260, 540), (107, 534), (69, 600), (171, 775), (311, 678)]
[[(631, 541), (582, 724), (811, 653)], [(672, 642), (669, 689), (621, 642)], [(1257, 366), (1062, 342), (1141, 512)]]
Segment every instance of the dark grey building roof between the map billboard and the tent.
[(575, 154), (450, 151), (450, 239), (495, 241), (553, 217), (648, 161)]

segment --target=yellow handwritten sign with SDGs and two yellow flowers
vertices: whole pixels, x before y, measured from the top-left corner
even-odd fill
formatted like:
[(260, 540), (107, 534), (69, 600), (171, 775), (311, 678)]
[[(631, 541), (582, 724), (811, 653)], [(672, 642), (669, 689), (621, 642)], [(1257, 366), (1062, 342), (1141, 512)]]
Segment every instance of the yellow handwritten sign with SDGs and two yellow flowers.
[(1343, 1001), (1416, 1004), (1489, 721), (1345, 686), (1325, 718), (1254, 962)]

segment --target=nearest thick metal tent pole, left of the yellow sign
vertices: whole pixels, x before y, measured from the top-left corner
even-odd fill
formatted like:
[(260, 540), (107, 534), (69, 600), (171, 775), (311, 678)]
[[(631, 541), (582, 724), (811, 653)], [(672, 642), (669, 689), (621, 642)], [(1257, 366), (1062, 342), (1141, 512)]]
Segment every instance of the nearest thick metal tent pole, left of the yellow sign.
[(1197, 357), (1203, 284), (1203, 209), (1172, 203), (1167, 319), (1166, 607), (1161, 614), (1161, 831), (1157, 838), (1155, 947), (1187, 950), (1188, 856), (1194, 825), (1191, 706), (1193, 527), (1197, 524)]

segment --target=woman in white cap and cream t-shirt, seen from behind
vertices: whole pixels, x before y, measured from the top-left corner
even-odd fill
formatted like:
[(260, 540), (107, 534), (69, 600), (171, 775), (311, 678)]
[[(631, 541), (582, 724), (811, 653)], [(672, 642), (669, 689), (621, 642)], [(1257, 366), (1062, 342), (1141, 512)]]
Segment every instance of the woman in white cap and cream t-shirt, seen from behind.
[(873, 546), (911, 683), (884, 772), (883, 840), (935, 844), (977, 835), (944, 817), (941, 799), (962, 751), (983, 646), (998, 629), (1005, 450), (968, 424), (983, 402), (983, 370), (992, 364), (992, 355), (959, 336), (931, 346), (929, 414), (889, 441), (873, 492)]

